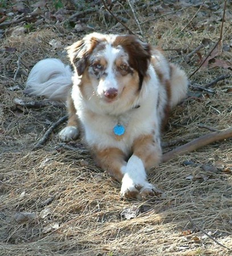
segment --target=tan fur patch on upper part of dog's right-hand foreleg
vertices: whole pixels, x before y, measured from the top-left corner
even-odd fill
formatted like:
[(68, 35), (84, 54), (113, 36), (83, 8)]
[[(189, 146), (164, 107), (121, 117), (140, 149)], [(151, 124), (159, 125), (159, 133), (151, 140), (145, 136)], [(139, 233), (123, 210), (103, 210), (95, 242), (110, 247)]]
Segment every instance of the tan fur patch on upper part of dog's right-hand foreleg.
[(155, 136), (143, 135), (135, 139), (132, 145), (133, 154), (143, 161), (144, 167), (149, 169), (158, 166), (161, 161), (161, 148), (155, 140)]

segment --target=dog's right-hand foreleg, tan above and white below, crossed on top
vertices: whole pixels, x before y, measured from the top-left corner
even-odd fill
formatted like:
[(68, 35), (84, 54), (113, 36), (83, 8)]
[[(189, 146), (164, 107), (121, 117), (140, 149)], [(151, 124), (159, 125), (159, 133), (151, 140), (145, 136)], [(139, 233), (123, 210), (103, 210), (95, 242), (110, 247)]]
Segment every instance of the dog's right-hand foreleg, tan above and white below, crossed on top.
[(145, 135), (135, 140), (133, 154), (129, 159), (122, 179), (121, 195), (142, 199), (153, 194), (153, 185), (148, 183), (146, 169), (157, 166), (161, 159), (159, 138)]

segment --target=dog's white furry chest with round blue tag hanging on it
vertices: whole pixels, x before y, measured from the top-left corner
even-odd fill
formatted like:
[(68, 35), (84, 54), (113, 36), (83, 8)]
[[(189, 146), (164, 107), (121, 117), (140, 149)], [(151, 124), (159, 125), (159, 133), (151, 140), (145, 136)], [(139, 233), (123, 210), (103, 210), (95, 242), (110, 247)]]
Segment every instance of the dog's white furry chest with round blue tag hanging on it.
[(142, 116), (143, 113), (137, 109), (119, 116), (82, 113), (81, 121), (86, 142), (90, 146), (94, 145), (102, 149), (117, 147), (128, 153), (136, 138), (151, 133), (155, 118), (142, 118)]

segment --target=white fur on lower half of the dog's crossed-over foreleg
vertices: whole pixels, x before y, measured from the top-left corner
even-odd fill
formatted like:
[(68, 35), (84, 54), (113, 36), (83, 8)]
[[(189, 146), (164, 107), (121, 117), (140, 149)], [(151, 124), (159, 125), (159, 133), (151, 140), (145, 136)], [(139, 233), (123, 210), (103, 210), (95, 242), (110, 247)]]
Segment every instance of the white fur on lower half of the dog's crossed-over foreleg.
[[(124, 171), (124, 168), (122, 171)], [(131, 192), (134, 192), (138, 194), (136, 197), (140, 199), (139, 194), (144, 191), (152, 192), (153, 186), (147, 182), (146, 177), (142, 160), (138, 156), (132, 155), (122, 179), (121, 196), (128, 196)]]

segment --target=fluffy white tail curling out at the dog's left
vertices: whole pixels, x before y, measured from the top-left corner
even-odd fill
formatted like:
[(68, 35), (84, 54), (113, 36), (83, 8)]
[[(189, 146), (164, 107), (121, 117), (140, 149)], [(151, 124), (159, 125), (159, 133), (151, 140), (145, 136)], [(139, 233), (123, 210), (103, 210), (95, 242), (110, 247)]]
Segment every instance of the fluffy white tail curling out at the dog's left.
[(65, 101), (72, 86), (72, 71), (59, 59), (40, 60), (31, 69), (24, 93)]

